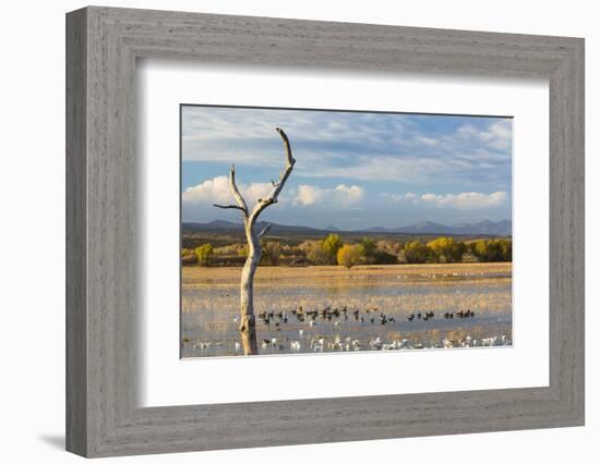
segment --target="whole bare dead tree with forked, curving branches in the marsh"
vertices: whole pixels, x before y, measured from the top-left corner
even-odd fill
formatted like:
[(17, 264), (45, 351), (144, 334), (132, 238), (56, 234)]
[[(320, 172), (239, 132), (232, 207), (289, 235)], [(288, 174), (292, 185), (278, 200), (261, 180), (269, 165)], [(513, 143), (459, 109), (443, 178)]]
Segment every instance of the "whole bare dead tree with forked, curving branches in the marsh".
[(238, 209), (243, 216), (243, 227), (245, 231), (245, 238), (248, 241), (248, 258), (245, 259), (245, 264), (242, 269), (240, 282), (240, 334), (245, 355), (256, 355), (259, 353), (253, 298), (254, 274), (256, 273), (256, 267), (261, 261), (261, 256), (263, 253), (261, 247), (261, 237), (263, 237), (271, 229), (271, 224), (267, 224), (262, 231), (256, 232), (256, 220), (265, 208), (269, 205), (277, 204), (277, 197), (279, 196), (291, 173), (293, 163), (296, 163), (296, 160), (291, 155), (291, 147), (289, 145), (288, 136), (280, 127), (276, 127), (275, 130), (279, 133), (281, 139), (284, 140), (284, 148), (286, 151), (286, 169), (281, 173), (278, 182), (271, 182), (273, 187), (269, 194), (265, 198), (259, 198), (252, 210), (249, 210), (248, 205), (245, 204), (245, 200), (236, 184), (236, 167), (232, 164), (231, 171), (229, 172), (229, 188), (236, 199), (236, 205), (214, 204), (214, 206), (218, 208)]

